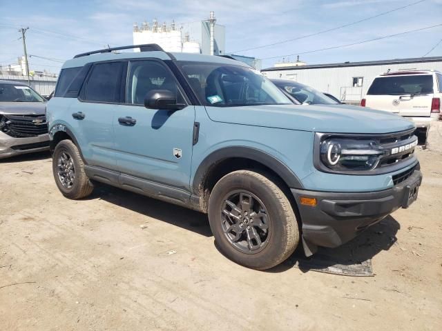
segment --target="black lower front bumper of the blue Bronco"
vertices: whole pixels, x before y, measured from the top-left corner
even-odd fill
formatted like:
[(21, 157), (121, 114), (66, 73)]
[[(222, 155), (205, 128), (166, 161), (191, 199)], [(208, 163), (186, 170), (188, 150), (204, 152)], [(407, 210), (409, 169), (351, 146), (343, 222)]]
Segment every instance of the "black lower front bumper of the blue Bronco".
[[(334, 248), (356, 237), (369, 225), (404, 207), (410, 186), (420, 185), (422, 174), (414, 170), (405, 181), (377, 192), (315, 192), (291, 189), (302, 221), (302, 240), (307, 255), (317, 246)], [(315, 206), (300, 204), (300, 197), (316, 198)]]

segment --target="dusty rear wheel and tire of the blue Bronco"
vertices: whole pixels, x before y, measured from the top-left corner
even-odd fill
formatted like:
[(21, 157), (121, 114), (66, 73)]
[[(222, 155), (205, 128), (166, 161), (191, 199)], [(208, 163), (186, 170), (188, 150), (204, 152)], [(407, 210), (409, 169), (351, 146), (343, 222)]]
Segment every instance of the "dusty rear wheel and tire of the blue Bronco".
[[(68, 162), (62, 161), (67, 160)], [(66, 164), (69, 164), (69, 167)], [(69, 170), (69, 179), (63, 181), (63, 174)], [(69, 199), (87, 197), (93, 191), (93, 184), (84, 172), (84, 162), (77, 146), (68, 139), (60, 141), (52, 154), (52, 173), (60, 192)]]

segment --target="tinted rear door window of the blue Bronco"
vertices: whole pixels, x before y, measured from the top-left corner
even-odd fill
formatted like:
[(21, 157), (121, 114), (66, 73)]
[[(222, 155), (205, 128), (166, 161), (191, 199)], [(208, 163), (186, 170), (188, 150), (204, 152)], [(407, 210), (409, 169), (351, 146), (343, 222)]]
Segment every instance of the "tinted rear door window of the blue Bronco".
[(96, 63), (92, 67), (86, 90), (85, 101), (119, 102), (119, 88), (122, 79), (122, 62)]

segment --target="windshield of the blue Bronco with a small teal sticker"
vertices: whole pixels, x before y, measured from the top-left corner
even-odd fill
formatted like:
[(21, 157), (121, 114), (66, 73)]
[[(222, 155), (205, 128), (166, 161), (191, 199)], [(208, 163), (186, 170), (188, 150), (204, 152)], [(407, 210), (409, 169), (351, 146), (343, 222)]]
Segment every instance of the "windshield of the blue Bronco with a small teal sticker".
[(222, 63), (180, 64), (203, 105), (233, 107), (292, 104), (269, 79), (252, 68)]

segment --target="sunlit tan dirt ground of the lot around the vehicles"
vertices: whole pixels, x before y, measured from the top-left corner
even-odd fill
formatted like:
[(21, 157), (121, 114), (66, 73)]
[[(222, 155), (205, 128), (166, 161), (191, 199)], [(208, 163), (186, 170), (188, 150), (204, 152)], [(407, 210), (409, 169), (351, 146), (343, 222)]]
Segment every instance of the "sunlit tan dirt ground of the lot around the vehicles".
[(267, 272), (216, 249), (206, 216), (115, 188), (70, 201), (48, 154), (0, 162), (0, 330), (442, 330), (442, 123), (419, 199), (333, 254), (374, 277)]

